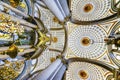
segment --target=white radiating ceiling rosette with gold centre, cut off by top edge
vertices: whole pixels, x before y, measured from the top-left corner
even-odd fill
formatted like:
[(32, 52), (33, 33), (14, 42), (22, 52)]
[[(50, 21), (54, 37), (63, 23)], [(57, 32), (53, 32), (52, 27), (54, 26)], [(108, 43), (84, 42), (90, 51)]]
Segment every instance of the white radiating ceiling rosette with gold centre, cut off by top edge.
[(110, 0), (73, 0), (73, 19), (80, 21), (98, 20), (110, 9)]

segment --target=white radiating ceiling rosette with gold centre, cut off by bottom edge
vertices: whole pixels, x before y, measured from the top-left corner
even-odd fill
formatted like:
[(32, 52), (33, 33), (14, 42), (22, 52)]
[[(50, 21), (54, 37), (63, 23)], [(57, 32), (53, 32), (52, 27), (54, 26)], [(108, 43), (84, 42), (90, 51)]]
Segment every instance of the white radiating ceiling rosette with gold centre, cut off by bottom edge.
[(66, 80), (106, 80), (102, 68), (87, 62), (72, 62), (66, 72)]

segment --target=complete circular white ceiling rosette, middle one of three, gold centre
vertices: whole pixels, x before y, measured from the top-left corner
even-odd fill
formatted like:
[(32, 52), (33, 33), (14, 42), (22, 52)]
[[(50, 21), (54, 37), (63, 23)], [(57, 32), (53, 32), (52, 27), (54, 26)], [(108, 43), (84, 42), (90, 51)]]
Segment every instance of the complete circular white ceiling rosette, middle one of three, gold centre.
[(78, 57), (97, 58), (107, 49), (106, 36), (106, 32), (97, 25), (79, 26), (70, 33), (68, 47)]

